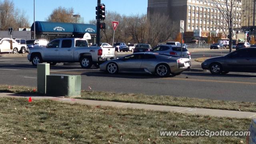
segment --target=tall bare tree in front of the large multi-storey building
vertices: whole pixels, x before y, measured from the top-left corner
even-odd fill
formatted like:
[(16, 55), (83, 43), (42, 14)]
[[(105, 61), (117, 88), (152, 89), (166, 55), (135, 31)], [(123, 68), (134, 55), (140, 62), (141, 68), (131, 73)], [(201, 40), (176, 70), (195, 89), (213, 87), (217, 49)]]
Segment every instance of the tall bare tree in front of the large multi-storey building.
[(220, 23), (223, 22), (223, 24), (218, 25), (217, 22), (216, 26), (221, 28), (226, 36), (229, 36), (229, 51), (232, 52), (232, 37), (236, 34), (234, 28), (240, 27), (241, 24), (242, 2), (241, 0), (209, 0), (208, 3), (211, 4), (214, 10), (218, 10), (221, 16), (221, 18), (215, 18), (215, 20), (220, 20)]

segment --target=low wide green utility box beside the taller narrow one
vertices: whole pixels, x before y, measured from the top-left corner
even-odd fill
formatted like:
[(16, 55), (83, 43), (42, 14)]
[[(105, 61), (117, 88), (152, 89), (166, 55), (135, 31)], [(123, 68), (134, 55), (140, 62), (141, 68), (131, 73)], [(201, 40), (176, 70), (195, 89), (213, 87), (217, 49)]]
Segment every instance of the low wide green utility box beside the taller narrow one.
[(46, 75), (46, 95), (80, 96), (80, 75)]

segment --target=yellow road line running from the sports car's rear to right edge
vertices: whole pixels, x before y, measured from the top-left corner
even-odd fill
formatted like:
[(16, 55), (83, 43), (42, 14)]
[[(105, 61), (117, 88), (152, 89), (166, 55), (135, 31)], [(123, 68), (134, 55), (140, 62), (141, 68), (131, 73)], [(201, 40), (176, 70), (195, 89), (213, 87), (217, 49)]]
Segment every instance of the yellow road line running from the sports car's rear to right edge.
[(167, 77), (167, 78), (163, 78), (163, 79), (174, 79), (174, 80), (184, 80), (184, 81), (202, 81), (202, 82), (214, 82), (214, 83), (238, 83), (238, 84), (256, 85), (256, 83), (240, 82), (240, 81), (218, 81), (218, 80), (207, 80), (207, 79), (184, 79), (184, 78), (173, 78), (173, 77)]

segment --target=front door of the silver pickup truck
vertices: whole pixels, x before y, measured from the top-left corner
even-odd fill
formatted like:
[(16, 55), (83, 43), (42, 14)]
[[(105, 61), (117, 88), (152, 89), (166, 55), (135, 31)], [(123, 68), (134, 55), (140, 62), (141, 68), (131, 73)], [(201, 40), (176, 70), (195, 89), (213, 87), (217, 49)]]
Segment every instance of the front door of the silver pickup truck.
[(51, 41), (46, 48), (43, 49), (44, 51), (44, 61), (60, 61), (59, 57), (59, 49), (60, 49), (60, 40), (56, 39)]

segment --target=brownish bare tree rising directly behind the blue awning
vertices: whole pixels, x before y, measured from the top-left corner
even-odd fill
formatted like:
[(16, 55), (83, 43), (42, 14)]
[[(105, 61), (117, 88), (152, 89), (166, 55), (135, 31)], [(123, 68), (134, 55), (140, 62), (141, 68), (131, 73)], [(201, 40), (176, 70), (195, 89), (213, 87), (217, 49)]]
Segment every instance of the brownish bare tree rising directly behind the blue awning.
[(52, 11), (52, 14), (48, 16), (46, 21), (48, 22), (74, 22), (73, 18), (74, 9), (73, 8), (62, 8), (59, 6), (58, 8)]

